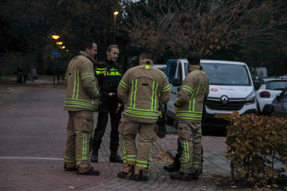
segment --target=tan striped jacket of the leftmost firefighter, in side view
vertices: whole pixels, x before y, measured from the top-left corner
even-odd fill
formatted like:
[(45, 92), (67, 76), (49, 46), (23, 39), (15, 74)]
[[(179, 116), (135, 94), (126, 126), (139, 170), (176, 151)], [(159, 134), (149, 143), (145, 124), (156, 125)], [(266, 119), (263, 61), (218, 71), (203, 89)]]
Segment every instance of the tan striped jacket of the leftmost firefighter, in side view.
[(96, 111), (98, 109), (100, 93), (93, 68), (95, 62), (86, 52), (81, 51), (69, 63), (65, 76), (67, 92), (64, 110)]

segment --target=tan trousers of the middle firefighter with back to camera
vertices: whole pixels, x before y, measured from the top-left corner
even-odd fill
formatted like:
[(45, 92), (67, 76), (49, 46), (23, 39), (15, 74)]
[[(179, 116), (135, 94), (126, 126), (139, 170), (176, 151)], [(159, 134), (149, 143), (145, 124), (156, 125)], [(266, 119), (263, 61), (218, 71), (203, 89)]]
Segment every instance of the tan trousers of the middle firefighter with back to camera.
[[(142, 170), (148, 173), (152, 162), (152, 141), (156, 141), (156, 123), (143, 123), (121, 118), (119, 133), (121, 134), (121, 149), (123, 152), (123, 172), (129, 172), (129, 165), (135, 165), (135, 174)], [(139, 133), (139, 150), (135, 144), (135, 137)]]

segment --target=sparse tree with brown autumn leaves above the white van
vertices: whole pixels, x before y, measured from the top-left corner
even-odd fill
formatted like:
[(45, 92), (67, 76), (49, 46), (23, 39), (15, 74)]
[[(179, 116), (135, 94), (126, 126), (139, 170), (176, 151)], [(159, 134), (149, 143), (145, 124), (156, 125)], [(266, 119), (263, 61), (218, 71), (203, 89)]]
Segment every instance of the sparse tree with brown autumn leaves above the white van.
[[(131, 38), (139, 38), (138, 31), (148, 26), (160, 39), (167, 39), (165, 47), (179, 58), (190, 47), (196, 47), (206, 58), (234, 45), (273, 41), (279, 32), (286, 32), (284, 0), (124, 0), (123, 4), (136, 21), (129, 25)], [(157, 42), (152, 42), (149, 47), (157, 47)]]

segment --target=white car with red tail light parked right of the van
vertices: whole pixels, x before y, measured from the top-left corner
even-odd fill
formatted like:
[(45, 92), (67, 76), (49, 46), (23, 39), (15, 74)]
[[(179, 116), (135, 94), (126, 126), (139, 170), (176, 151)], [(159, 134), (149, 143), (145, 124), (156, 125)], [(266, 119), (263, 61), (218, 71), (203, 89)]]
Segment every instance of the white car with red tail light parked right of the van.
[(271, 104), (284, 88), (287, 87), (287, 79), (262, 78), (259, 82), (259, 89), (255, 91), (257, 109), (260, 115), (271, 114)]

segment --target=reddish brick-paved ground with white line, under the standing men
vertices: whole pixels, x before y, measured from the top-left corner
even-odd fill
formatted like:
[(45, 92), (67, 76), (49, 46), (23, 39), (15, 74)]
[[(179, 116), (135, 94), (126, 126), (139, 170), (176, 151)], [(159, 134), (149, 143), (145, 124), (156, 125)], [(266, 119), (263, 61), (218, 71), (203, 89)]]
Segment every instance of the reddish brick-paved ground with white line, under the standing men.
[[(169, 173), (162, 169), (165, 164), (156, 162), (152, 162), (150, 180), (147, 182), (117, 178), (123, 165), (108, 162), (110, 123), (100, 148), (99, 162), (92, 163), (100, 171), (100, 176), (79, 176), (75, 172), (65, 172), (63, 155), (68, 114), (63, 111), (64, 99), (65, 89), (35, 88), (13, 104), (0, 108), (1, 191), (208, 191), (217, 189), (210, 179), (211, 175), (229, 175), (229, 163), (224, 156), (225, 137), (203, 137), (204, 172), (197, 181), (171, 180)], [(176, 147), (177, 135), (158, 138), (153, 155), (162, 150), (175, 153)]]

